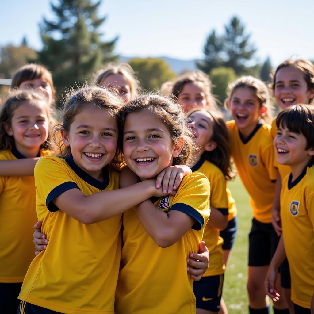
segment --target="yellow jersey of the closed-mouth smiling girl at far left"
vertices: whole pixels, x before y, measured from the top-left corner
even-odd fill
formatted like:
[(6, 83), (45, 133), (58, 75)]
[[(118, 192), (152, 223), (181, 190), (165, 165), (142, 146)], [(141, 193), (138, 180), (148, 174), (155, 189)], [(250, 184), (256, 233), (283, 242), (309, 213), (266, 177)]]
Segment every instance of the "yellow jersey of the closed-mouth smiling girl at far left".
[[(39, 156), (50, 154), (43, 150)], [(25, 158), (16, 149), (0, 160)], [(37, 221), (34, 176), (0, 176), (0, 282), (22, 282), (35, 257), (33, 225)]]

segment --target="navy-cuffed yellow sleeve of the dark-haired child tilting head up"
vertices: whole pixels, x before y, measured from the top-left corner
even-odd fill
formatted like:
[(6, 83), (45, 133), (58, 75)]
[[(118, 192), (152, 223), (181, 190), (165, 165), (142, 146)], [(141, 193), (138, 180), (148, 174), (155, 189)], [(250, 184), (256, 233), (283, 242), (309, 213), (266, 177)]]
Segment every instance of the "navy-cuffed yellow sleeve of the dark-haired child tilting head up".
[(223, 215), (228, 215), (228, 196), (226, 191), (226, 180), (222, 173), (215, 176), (215, 180), (210, 182), (210, 205), (221, 211)]

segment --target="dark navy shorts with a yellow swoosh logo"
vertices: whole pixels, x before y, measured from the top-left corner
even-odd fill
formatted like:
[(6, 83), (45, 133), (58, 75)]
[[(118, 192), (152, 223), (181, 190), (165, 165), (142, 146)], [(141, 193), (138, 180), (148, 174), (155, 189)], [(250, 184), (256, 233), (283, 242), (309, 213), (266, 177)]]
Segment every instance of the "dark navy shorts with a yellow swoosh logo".
[(224, 274), (202, 277), (194, 281), (193, 291), (196, 297), (196, 308), (212, 312), (219, 312)]

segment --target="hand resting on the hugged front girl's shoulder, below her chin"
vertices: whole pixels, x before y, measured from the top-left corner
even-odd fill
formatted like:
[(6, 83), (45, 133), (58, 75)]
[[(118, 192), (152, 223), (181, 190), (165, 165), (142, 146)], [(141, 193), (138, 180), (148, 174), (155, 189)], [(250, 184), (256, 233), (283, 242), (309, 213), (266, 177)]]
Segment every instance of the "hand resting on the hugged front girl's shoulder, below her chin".
[(167, 167), (157, 176), (156, 188), (160, 188), (162, 182), (163, 193), (171, 193), (173, 190), (177, 189), (183, 177), (189, 175), (190, 173), (192, 173), (192, 170), (186, 165)]

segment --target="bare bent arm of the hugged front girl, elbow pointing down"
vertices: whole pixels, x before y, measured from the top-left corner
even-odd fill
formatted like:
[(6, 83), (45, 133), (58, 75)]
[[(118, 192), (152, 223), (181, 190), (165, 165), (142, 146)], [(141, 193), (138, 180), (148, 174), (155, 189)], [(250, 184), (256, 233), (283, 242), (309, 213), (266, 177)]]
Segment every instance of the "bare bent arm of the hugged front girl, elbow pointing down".
[(160, 247), (176, 243), (195, 222), (191, 216), (178, 210), (165, 213), (150, 200), (140, 203), (134, 209), (146, 232)]

